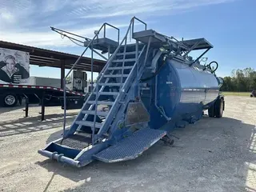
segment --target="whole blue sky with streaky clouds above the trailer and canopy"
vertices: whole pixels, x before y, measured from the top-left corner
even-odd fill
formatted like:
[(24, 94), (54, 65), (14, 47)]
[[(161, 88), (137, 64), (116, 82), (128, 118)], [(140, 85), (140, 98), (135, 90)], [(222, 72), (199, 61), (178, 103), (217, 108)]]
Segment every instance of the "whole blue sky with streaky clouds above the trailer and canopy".
[[(219, 63), (217, 74), (224, 77), (234, 69), (256, 69), (255, 7), (255, 0), (0, 0), (0, 40), (79, 55), (84, 47), (62, 39), (50, 26), (93, 38), (108, 22), (118, 26), (122, 39), (136, 16), (167, 36), (206, 38), (214, 45), (206, 57)], [(30, 75), (60, 78), (60, 70), (31, 66)]]

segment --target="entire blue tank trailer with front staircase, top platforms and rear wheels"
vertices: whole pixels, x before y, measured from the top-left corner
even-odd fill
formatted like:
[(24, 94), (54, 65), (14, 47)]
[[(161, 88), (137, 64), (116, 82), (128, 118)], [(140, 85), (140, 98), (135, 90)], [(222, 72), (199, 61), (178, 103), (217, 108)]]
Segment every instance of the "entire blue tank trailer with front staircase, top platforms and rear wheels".
[[(144, 30), (134, 31), (135, 21)], [(178, 41), (134, 17), (119, 42), (106, 37), (106, 26), (111, 25), (104, 23), (94, 38), (84, 38), (83, 54), (88, 49), (110, 54), (93, 92), (68, 129), (64, 123), (63, 136), (39, 154), (77, 167), (94, 160), (122, 162), (138, 158), (159, 140), (172, 144), (170, 131), (197, 122), (205, 110), (210, 118), (222, 118), (218, 62), (200, 63), (214, 47), (205, 38)], [(135, 43), (127, 43), (129, 34)], [(192, 58), (194, 50), (202, 54)]]

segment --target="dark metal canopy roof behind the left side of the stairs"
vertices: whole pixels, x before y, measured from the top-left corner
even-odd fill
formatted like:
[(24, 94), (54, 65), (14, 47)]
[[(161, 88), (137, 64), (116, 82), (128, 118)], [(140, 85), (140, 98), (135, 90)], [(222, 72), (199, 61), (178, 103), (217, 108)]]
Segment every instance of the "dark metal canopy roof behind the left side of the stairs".
[[(76, 62), (76, 60), (79, 58), (79, 56), (75, 54), (66, 54), (55, 50), (46, 50), (13, 42), (0, 41), (0, 48), (28, 52), (30, 53), (30, 65), (61, 68), (61, 74), (64, 72), (65, 69), (70, 69), (73, 66), (74, 62)], [(105, 64), (106, 61), (94, 59), (94, 72), (100, 72)], [(78, 65), (74, 67), (74, 70), (90, 71), (90, 66), (90, 58), (82, 57)], [(61, 76), (63, 77), (63, 74)]]

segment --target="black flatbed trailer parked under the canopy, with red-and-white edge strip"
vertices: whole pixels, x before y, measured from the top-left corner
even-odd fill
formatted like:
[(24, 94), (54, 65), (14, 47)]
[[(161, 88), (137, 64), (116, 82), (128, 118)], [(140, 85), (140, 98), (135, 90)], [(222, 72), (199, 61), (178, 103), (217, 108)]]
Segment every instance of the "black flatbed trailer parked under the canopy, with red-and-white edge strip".
[[(28, 116), (29, 104), (42, 106), (42, 120), (44, 120), (45, 106), (62, 106), (63, 89), (53, 86), (31, 86), (0, 84), (0, 104), (2, 106), (16, 106), (22, 100), (26, 101), (26, 117)], [(83, 105), (86, 94), (72, 90), (66, 90), (66, 109), (80, 109)]]

